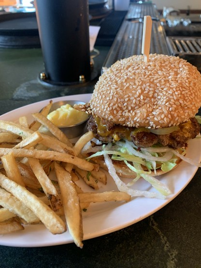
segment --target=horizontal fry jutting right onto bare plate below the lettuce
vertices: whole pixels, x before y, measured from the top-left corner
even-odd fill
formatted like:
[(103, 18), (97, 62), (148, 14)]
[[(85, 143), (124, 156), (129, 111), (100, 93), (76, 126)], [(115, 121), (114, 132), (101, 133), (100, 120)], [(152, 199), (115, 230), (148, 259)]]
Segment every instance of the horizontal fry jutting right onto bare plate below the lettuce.
[(80, 202), (109, 202), (109, 201), (126, 201), (129, 202), (131, 196), (124, 192), (103, 192), (103, 193), (79, 193)]

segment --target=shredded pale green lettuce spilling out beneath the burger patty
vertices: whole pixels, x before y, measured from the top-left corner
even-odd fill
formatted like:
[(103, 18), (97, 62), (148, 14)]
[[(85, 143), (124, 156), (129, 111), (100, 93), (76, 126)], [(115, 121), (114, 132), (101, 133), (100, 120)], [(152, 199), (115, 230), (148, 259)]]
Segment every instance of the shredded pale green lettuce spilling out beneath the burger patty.
[[(98, 148), (100, 151), (97, 151)], [(167, 185), (151, 176), (151, 173), (154, 171), (156, 174), (158, 168), (161, 168), (164, 172), (170, 171), (176, 165), (177, 158), (175, 158), (175, 151), (176, 150), (170, 148), (162, 148), (160, 145), (158, 145), (158, 147), (155, 145), (154, 147), (139, 149), (130, 141), (120, 140), (115, 142), (115, 144), (108, 143), (107, 145), (103, 144), (102, 146), (91, 148), (93, 154), (86, 159), (89, 160), (93, 157), (104, 156), (109, 174), (115, 180), (119, 191), (126, 192), (131, 196), (144, 195), (145, 197), (164, 199), (165, 196), (171, 194), (171, 191)], [(185, 149), (182, 154), (185, 154)], [(127, 184), (124, 183), (116, 174), (112, 160), (124, 161), (129, 169), (135, 172), (135, 178)], [(158, 193), (129, 188), (140, 178), (149, 182)]]

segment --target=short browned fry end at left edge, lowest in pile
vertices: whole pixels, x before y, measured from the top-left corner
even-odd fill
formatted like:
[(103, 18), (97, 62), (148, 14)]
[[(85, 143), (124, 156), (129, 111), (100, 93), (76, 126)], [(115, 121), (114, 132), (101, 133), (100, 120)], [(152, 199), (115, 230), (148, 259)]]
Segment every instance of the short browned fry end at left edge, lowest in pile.
[(24, 226), (14, 218), (0, 222), (0, 235), (10, 234), (21, 230), (24, 230)]

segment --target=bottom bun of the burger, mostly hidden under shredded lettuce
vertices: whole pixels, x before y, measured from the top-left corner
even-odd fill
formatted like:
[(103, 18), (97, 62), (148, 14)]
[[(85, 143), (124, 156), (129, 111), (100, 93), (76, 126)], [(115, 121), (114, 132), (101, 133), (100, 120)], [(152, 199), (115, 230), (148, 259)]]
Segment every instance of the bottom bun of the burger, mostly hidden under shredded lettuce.
[[(177, 161), (176, 161), (176, 165), (172, 169), (177, 167), (178, 164), (180, 164), (182, 162), (182, 160), (180, 158), (178, 158), (176, 156), (174, 158), (177, 158)], [(105, 164), (103, 156), (96, 156), (96, 157), (93, 157), (91, 160), (93, 162), (95, 162), (96, 164), (99, 164), (100, 167), (102, 167), (104, 170), (108, 171), (108, 168)], [(129, 179), (134, 179), (136, 177), (136, 173), (134, 171), (132, 171), (131, 169), (129, 169), (129, 167), (123, 161), (112, 160), (112, 162), (113, 162), (113, 165), (115, 167), (116, 173), (120, 177), (129, 178)], [(156, 176), (165, 174), (167, 172), (169, 172), (169, 171), (162, 171), (160, 168), (158, 168), (156, 170), (156, 173), (154, 171), (152, 171), (152, 173), (150, 175), (156, 177)]]

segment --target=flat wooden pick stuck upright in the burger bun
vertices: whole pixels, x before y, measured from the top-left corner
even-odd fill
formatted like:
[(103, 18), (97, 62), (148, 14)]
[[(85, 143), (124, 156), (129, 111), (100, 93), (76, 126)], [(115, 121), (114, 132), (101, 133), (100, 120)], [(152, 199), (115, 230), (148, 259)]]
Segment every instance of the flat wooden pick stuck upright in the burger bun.
[(149, 61), (151, 28), (152, 28), (151, 16), (144, 16), (142, 54), (144, 55), (145, 62)]

